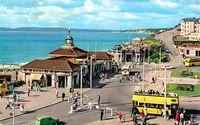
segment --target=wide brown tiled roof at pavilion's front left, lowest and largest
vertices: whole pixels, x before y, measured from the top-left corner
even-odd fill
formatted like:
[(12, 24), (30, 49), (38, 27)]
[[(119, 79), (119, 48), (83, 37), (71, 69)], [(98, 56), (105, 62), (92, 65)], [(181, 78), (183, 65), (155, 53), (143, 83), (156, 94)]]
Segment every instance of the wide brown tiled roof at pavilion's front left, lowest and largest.
[(57, 70), (64, 72), (72, 72), (80, 70), (80, 67), (76, 64), (64, 60), (33, 60), (32, 62), (25, 64), (22, 69), (41, 69), (41, 70)]

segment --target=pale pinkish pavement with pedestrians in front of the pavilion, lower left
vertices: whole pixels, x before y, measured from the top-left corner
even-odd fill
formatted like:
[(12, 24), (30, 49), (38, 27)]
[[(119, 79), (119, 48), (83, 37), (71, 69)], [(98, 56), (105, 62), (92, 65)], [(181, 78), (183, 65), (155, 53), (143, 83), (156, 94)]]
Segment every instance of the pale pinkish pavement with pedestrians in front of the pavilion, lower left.
[[(32, 112), (35, 110), (39, 110), (41, 108), (54, 105), (56, 103), (60, 103), (62, 101), (61, 94), (64, 92), (66, 95), (66, 98), (70, 96), (69, 89), (67, 88), (59, 88), (59, 98), (56, 98), (56, 88), (42, 88), (41, 91), (31, 91), (30, 96), (27, 95), (28, 90), (27, 85), (23, 85), (21, 87), (17, 87), (15, 89), (15, 93), (20, 95), (19, 100), (16, 102), (17, 104), (23, 104), (24, 105), (24, 112)], [(84, 88), (83, 92), (88, 91), (89, 89)], [(79, 91), (79, 89), (75, 89), (75, 92)], [(0, 120), (7, 119), (12, 117), (10, 113), (13, 113), (12, 109), (5, 109), (6, 102), (9, 100), (9, 98), (12, 97), (12, 95), (8, 95), (6, 98), (0, 99)], [(16, 106), (15, 115), (22, 115), (19, 111), (19, 106)]]

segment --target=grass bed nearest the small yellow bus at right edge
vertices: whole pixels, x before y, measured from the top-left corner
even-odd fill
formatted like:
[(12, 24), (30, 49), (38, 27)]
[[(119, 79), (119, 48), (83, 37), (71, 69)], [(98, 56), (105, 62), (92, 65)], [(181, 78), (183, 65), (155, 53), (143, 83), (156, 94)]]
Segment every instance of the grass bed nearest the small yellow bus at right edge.
[(200, 73), (199, 72), (192, 72), (192, 71), (189, 71), (191, 73), (191, 75), (183, 75), (182, 72), (184, 70), (173, 70), (172, 73), (171, 73), (171, 77), (187, 77), (187, 78), (200, 78)]

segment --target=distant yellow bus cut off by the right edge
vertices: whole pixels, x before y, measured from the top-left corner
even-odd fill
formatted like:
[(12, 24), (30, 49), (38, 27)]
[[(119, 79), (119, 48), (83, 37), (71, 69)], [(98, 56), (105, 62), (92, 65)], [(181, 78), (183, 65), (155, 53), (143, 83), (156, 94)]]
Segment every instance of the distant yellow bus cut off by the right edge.
[(186, 58), (183, 64), (185, 66), (200, 66), (200, 58)]

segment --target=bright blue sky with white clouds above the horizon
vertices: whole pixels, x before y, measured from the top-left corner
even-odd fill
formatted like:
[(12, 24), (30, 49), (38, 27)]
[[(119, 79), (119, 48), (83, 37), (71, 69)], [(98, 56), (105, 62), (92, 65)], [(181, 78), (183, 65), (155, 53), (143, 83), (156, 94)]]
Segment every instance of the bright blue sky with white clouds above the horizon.
[(0, 27), (167, 28), (200, 18), (200, 0), (0, 0)]

